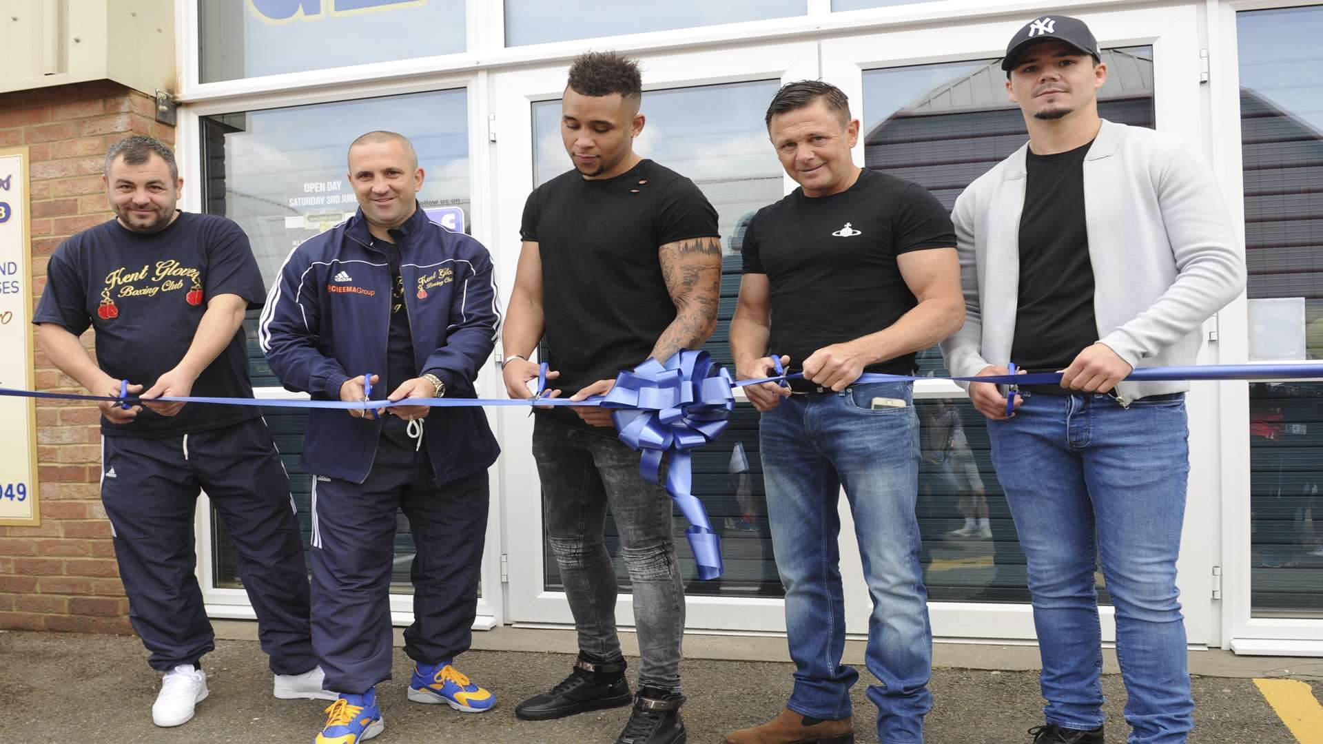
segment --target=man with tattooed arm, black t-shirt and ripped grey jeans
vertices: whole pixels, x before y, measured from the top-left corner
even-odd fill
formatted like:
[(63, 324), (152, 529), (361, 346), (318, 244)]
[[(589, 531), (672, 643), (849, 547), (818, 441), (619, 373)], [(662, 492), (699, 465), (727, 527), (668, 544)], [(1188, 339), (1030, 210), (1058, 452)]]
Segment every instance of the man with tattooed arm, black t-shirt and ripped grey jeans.
[[(546, 334), (548, 379), (572, 400), (611, 389), (648, 357), (699, 348), (717, 322), (717, 214), (689, 179), (632, 150), (643, 131), (638, 64), (614, 53), (578, 57), (561, 103), (561, 136), (574, 169), (542, 184), (524, 208), (523, 252), (504, 332), (505, 391), (528, 398), (529, 356)], [(617, 739), (671, 744), (684, 737), (679, 707), (684, 584), (671, 499), (639, 474), (639, 453), (615, 438), (610, 410), (537, 412), (533, 458), (546, 536), (578, 629), (569, 678), (520, 703), (525, 720), (627, 706), (615, 629), (617, 577), (606, 551), (606, 510), (620, 535), (639, 634), (639, 694)]]

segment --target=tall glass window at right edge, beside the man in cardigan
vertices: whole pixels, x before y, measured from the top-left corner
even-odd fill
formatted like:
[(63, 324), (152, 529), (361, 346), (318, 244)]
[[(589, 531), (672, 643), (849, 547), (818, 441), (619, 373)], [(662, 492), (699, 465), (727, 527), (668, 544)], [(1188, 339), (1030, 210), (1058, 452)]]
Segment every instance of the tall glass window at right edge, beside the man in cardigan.
[[(1236, 25), (1250, 353), (1323, 359), (1323, 7)], [(1323, 387), (1249, 389), (1250, 612), (1323, 617)]]

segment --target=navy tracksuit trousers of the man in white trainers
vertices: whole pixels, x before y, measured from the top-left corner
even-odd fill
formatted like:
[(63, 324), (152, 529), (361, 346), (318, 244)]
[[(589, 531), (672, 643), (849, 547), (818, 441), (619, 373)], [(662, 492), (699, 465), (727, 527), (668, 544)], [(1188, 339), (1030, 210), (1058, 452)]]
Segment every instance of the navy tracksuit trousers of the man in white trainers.
[(101, 498), (115, 534), (128, 620), (156, 670), (216, 647), (194, 569), (193, 511), (205, 490), (229, 530), (275, 674), (316, 666), (308, 577), (290, 478), (261, 418), (177, 437), (105, 437)]

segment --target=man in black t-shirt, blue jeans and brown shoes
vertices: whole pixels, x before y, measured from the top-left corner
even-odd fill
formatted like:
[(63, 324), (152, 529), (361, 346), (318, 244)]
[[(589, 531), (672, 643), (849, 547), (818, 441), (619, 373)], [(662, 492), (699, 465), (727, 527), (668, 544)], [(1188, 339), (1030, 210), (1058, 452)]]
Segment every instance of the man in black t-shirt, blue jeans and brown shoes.
[(762, 412), (759, 445), (795, 686), (770, 723), (732, 744), (853, 741), (841, 666), (844, 597), (836, 551), (841, 486), (873, 600), (865, 662), (880, 684), (877, 737), (923, 741), (933, 634), (919, 569), (918, 417), (912, 383), (855, 384), (864, 372), (912, 375), (914, 355), (960, 327), (955, 234), (946, 209), (913, 184), (855, 165), (859, 120), (837, 87), (783, 86), (767, 134), (800, 188), (765, 207), (744, 240), (730, 324), (742, 380), (803, 372), (789, 388), (745, 388)]

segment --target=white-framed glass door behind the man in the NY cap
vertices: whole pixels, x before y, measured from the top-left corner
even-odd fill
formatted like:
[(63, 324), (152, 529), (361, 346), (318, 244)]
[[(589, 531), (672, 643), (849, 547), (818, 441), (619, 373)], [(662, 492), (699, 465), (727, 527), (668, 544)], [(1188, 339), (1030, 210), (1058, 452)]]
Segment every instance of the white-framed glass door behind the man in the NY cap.
[[(1197, 61), (1193, 8), (1081, 17), (1098, 37), (1109, 68), (1099, 91), (1102, 116), (1176, 131), (1200, 144), (1199, 77), (1189, 64)], [(923, 185), (950, 209), (974, 179), (1027, 139), (1021, 114), (1007, 99), (1000, 69), (1005, 41), (1025, 20), (824, 41), (823, 78), (847, 91), (863, 120), (857, 162)], [(1135, 29), (1144, 30), (1136, 34)], [(1204, 353), (1209, 355), (1207, 348)], [(947, 375), (937, 348), (921, 353), (918, 365), (919, 375)], [(921, 563), (933, 633), (1033, 638), (1024, 552), (992, 470), (983, 417), (950, 383), (919, 381), (914, 397), (922, 441)], [(1216, 400), (1216, 388), (1196, 387), (1189, 397), (1193, 453), (1216, 445), (1213, 429), (1199, 426), (1201, 401), (1208, 397)], [(1205, 535), (1216, 526), (1207, 519), (1207, 510), (1197, 507), (1216, 498), (1216, 477), (1207, 471), (1196, 462), (1191, 473), (1180, 563), (1192, 645), (1207, 643), (1212, 633), (1213, 555)], [(962, 528), (967, 519), (975, 520), (975, 530)], [(1097, 576), (1099, 604), (1107, 605), (1101, 571)], [(867, 597), (848, 606), (848, 629), (867, 633), (869, 612)], [(1109, 606), (1103, 608), (1103, 635), (1115, 638)]]

